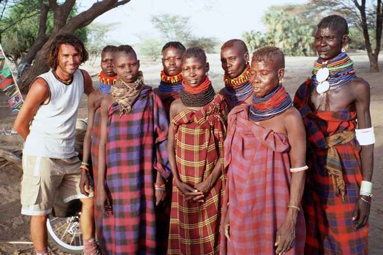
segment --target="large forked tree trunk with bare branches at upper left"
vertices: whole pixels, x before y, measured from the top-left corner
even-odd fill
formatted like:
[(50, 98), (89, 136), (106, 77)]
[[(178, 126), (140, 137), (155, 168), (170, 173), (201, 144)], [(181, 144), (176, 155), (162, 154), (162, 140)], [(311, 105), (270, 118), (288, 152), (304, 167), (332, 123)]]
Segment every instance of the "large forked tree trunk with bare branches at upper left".
[[(56, 35), (62, 33), (74, 33), (77, 29), (86, 27), (101, 14), (129, 2), (130, 0), (99, 0), (94, 2), (88, 10), (69, 18), (69, 14), (73, 10), (76, 0), (38, 0), (39, 5), (36, 7), (38, 8), (39, 15), (38, 35), (22, 60), (27, 63), (32, 63), (33, 60), (35, 61), (32, 67), (26, 69), (18, 80), (20, 90), (22, 92), (27, 92), (33, 79), (35, 79), (37, 75), (49, 70), (49, 67), (45, 64), (44, 58), (46, 49)], [(5, 3), (7, 3), (7, 1), (5, 1)], [(48, 13), (50, 10), (53, 12), (54, 17), (51, 33), (47, 31)]]

